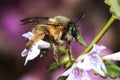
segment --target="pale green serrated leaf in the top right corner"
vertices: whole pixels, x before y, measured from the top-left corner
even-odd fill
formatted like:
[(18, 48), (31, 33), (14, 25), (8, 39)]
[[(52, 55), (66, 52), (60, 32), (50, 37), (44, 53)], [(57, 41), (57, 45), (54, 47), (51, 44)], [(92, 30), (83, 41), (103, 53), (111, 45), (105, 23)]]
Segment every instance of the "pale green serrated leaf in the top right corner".
[(110, 12), (120, 19), (120, 3), (119, 0), (105, 0), (105, 3), (110, 6)]

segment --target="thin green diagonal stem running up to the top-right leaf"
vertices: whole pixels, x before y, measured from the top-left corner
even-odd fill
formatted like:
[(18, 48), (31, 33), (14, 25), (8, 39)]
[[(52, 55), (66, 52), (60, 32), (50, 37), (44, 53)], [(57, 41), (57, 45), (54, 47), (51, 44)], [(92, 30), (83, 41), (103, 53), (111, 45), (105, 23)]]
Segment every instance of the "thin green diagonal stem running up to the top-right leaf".
[(103, 29), (98, 33), (98, 35), (92, 40), (92, 42), (88, 45), (88, 47), (80, 55), (86, 54), (87, 52), (89, 52), (91, 50), (93, 44), (97, 43), (102, 38), (102, 36), (109, 29), (110, 25), (114, 22), (114, 20), (115, 20), (115, 17), (112, 15), (111, 18), (109, 19), (109, 21), (107, 22), (107, 24), (103, 27)]

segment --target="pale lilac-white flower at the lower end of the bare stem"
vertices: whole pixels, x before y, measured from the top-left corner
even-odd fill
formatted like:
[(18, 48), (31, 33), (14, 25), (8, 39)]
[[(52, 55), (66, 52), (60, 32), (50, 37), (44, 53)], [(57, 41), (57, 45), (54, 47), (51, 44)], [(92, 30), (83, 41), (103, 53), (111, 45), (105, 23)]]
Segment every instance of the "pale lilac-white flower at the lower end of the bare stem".
[(100, 58), (99, 54), (102, 50), (104, 50), (104, 46), (98, 46), (94, 44), (93, 49), (87, 54), (80, 56), (76, 61), (82, 61), (81, 68), (85, 70), (93, 69), (98, 72), (100, 75), (104, 76), (106, 71), (106, 67)]

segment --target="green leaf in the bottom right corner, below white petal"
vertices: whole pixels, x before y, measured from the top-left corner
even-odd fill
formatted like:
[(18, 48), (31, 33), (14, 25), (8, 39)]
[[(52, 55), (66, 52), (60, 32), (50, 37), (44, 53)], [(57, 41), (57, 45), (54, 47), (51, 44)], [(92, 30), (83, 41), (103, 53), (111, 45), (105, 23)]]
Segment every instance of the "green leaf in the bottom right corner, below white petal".
[(104, 63), (105, 63), (106, 68), (107, 68), (107, 73), (106, 73), (106, 76), (104, 76), (104, 78), (110, 77), (112, 79), (115, 79), (117, 77), (120, 77), (120, 67), (113, 64), (110, 61), (105, 61)]

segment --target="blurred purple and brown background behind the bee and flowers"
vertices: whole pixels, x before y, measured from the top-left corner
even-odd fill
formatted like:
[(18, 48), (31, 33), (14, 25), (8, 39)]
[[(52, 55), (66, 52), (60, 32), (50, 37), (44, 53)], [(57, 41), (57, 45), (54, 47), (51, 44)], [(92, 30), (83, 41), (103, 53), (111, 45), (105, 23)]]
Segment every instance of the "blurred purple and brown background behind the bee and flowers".
[[(89, 44), (111, 16), (104, 0), (0, 0), (0, 80), (57, 80), (63, 69), (51, 73), (46, 68), (53, 61), (52, 50), (44, 58), (37, 57), (24, 66), (25, 58), (20, 53), (27, 40), (21, 35), (32, 27), (21, 25), (20, 20), (33, 16), (63, 15), (75, 21), (81, 14), (86, 16), (77, 25)], [(98, 44), (107, 47), (106, 54), (117, 52), (120, 50), (119, 37), (120, 21), (116, 20)], [(72, 42), (75, 57), (84, 48)], [(116, 64), (120, 65), (119, 62)], [(92, 72), (90, 74), (93, 80), (111, 80), (94, 76)]]

